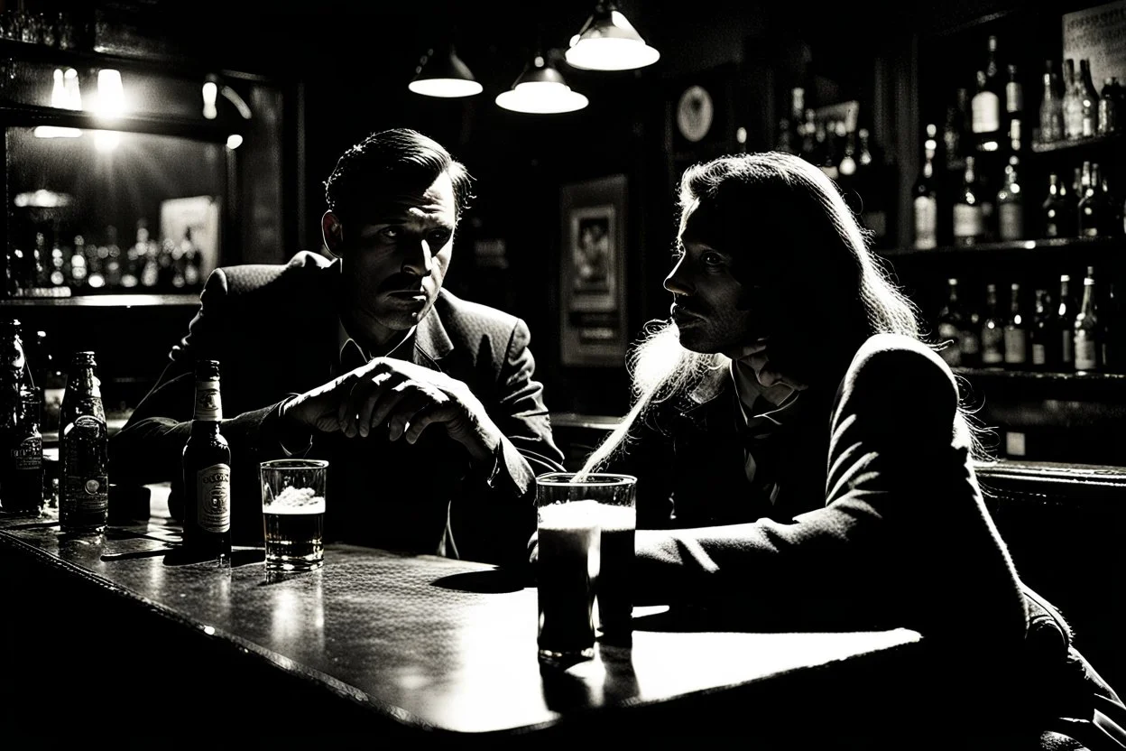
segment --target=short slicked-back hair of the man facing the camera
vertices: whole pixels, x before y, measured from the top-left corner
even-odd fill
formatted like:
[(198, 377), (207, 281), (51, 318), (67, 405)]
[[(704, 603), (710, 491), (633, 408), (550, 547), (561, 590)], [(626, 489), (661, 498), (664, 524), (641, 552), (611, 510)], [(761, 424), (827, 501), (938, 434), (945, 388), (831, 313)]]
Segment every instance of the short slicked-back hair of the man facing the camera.
[(473, 177), (465, 166), (417, 131), (379, 131), (340, 155), (324, 181), (324, 202), (342, 223), (363, 223), (367, 212), (400, 196), (423, 193), (444, 172), (454, 184), (461, 218), (473, 199)]

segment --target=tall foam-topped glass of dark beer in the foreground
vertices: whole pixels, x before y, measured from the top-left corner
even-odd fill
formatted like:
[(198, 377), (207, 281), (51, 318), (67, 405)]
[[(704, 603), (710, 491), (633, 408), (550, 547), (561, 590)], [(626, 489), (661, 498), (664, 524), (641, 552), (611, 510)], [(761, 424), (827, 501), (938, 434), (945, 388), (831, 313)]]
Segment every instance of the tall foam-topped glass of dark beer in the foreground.
[(631, 634), (636, 484), (608, 473), (536, 479), (542, 658), (592, 656), (596, 628)]

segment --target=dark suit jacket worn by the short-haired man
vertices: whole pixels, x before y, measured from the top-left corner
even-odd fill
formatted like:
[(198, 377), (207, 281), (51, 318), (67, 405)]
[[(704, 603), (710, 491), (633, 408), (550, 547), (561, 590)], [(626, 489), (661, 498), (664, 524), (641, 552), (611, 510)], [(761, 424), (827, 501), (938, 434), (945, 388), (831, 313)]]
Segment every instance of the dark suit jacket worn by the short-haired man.
[[(216, 269), (188, 334), (124, 429), (110, 441), (114, 482), (173, 483), (190, 431), (194, 361), (221, 364), (223, 436), (232, 448), (232, 537), (262, 536), (258, 463), (286, 455), (278, 410), (289, 395), (332, 378), (339, 357), (339, 262), (307, 251), (287, 265)], [(533, 378), (529, 332), (519, 319), (443, 290), (396, 357), (464, 382), (506, 436), (499, 472), (471, 468), (440, 428), (413, 446), (379, 431), (318, 433), (306, 456), (328, 458), (325, 535), (412, 553), (492, 563), (522, 561), (535, 530), (535, 475), (558, 471), (543, 387)], [(307, 445), (307, 433), (287, 446)]]

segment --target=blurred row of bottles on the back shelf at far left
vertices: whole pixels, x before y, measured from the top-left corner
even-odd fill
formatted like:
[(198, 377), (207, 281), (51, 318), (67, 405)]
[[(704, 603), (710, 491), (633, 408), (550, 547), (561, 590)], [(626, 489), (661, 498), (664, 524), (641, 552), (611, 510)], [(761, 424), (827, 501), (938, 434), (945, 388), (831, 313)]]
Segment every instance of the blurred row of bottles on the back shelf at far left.
[[(50, 235), (50, 236), (48, 236)], [(82, 234), (20, 233), (7, 258), (10, 296), (65, 296), (108, 292), (196, 292), (203, 284), (203, 252), (191, 227), (177, 240), (153, 238), (144, 220), (124, 249), (117, 229), (106, 227), (95, 242)]]

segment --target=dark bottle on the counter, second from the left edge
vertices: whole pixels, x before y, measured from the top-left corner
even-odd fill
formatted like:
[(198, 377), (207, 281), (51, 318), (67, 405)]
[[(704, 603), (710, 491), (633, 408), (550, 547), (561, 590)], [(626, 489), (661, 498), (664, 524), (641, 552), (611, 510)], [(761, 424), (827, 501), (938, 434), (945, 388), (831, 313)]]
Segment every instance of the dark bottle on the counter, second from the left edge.
[(59, 521), (64, 534), (100, 533), (109, 513), (109, 433), (93, 352), (74, 352), (59, 432)]

